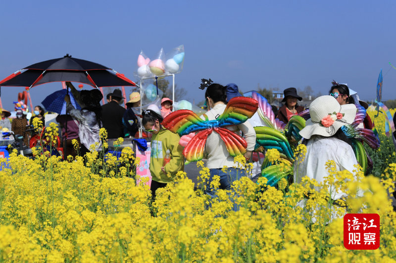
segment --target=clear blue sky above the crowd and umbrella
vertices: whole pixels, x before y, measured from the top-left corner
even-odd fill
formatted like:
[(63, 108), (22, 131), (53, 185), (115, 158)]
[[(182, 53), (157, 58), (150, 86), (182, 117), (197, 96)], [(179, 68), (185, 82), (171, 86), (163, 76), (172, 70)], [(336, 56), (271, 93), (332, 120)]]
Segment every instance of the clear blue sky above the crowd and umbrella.
[[(260, 87), (328, 92), (347, 83), (375, 99), (396, 99), (396, 1), (3, 1), (0, 79), (30, 64), (62, 57), (91, 60), (134, 78), (143, 51), (153, 58), (184, 44), (176, 84), (203, 100), (201, 78), (242, 91)], [(60, 84), (31, 89), (40, 104)], [(85, 86), (85, 88), (90, 88)], [(3, 107), (23, 88), (2, 87)], [(127, 91), (128, 92), (128, 91)]]

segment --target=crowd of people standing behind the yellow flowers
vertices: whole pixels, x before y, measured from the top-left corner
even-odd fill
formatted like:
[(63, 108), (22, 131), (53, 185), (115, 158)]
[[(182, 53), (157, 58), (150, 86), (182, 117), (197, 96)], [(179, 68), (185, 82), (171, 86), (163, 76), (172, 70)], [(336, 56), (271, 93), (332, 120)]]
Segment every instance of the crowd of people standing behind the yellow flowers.
[[(140, 137), (150, 138), (151, 158), (149, 170), (152, 176), (151, 191), (155, 197), (155, 191), (171, 182), (178, 171), (184, 169), (183, 147), (179, 144), (180, 136), (165, 129), (161, 123), (163, 118), (173, 111), (173, 101), (167, 97), (162, 98), (161, 108), (156, 105), (148, 106), (147, 110), (139, 112), (141, 97), (139, 92), (132, 92), (126, 102), (125, 109), (120, 105), (123, 99), (122, 92), (115, 89), (107, 94), (107, 103), (100, 105), (102, 94), (98, 89), (78, 91), (67, 82), (76, 102), (81, 106), (81, 110), (76, 109), (71, 103), (70, 96), (65, 96), (66, 109), (68, 115), (58, 115), (56, 121), (60, 124), (62, 131), (62, 141), (64, 152), (67, 155), (76, 156), (77, 152), (71, 143), (77, 139), (80, 144), (79, 153), (84, 155), (90, 150), (101, 150), (102, 142), (99, 136), (100, 128), (105, 128), (108, 139), (119, 137)], [(353, 97), (347, 85), (333, 82), (329, 90), (329, 95), (320, 96), (312, 101), (309, 106), (310, 119), (299, 134), (303, 137), (302, 143), (307, 147), (307, 153), (301, 165), (295, 171), (296, 175), (306, 175), (321, 182), (327, 175), (325, 163), (334, 160), (339, 171), (347, 170), (352, 173), (354, 165), (357, 164), (351, 142), (340, 129), (346, 124), (351, 124), (356, 115), (356, 106), (362, 105), (367, 108), (367, 104), (358, 100), (356, 92)], [(238, 86), (229, 84), (210, 84), (205, 91), (205, 106), (207, 112), (200, 116), (202, 120), (216, 120), (225, 110), (228, 101), (236, 96), (241, 96)], [(287, 123), (290, 118), (304, 110), (298, 105), (302, 97), (297, 94), (296, 88), (286, 88), (282, 102), (285, 104), (277, 110), (277, 118)], [(332, 123), (323, 124), (323, 120), (329, 114), (336, 113), (337, 119)], [(45, 111), (41, 106), (36, 106), (34, 116), (30, 123), (25, 112), (18, 110), (16, 119), (10, 123), (8, 117), (10, 112), (2, 109), (0, 126), (1, 129), (8, 129), (15, 134), (24, 134), (33, 119), (40, 119), (45, 125)], [(67, 125), (66, 125), (67, 123)], [(372, 122), (366, 116), (364, 128), (372, 129)], [(67, 128), (66, 128), (67, 127)], [(139, 132), (141, 128), (141, 131)], [(255, 147), (256, 134), (253, 126), (246, 122), (228, 126), (228, 130), (242, 135), (247, 141), (247, 151), (245, 157), (251, 158)], [(6, 131), (3, 130), (3, 131)], [(25, 136), (24, 143), (28, 145), (28, 136)], [(170, 161), (164, 163), (165, 154), (170, 154)], [(216, 196), (216, 191), (211, 184), (215, 175), (220, 177), (220, 189), (231, 189), (235, 180), (246, 176), (244, 169), (235, 168), (234, 158), (227, 150), (221, 135), (212, 132), (208, 135), (204, 147), (206, 166), (209, 168), (210, 177), (206, 181), (205, 193), (212, 198)], [(227, 168), (224, 170), (224, 168)], [(300, 182), (301, 177), (295, 176), (295, 182)], [(333, 199), (342, 198), (343, 193), (332, 196)], [(234, 210), (237, 210), (234, 207)]]

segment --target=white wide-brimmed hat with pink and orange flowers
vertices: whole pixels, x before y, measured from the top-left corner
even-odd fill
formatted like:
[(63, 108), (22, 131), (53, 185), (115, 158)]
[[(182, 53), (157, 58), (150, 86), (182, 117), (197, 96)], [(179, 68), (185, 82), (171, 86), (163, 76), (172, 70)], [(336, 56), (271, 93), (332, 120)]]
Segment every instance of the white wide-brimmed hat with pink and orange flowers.
[(352, 124), (356, 116), (354, 104), (340, 105), (333, 96), (320, 96), (309, 105), (311, 119), (299, 134), (309, 139), (312, 135), (330, 137), (346, 124)]

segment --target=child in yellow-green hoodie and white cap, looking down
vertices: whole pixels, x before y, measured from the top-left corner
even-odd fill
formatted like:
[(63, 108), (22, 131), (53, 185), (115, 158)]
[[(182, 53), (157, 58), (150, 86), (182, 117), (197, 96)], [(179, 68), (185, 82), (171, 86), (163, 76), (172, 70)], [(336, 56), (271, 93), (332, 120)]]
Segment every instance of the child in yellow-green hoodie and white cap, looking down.
[[(155, 191), (165, 187), (178, 171), (184, 170), (183, 147), (179, 145), (180, 136), (162, 127), (162, 116), (153, 110), (143, 112), (142, 125), (146, 132), (151, 132), (150, 173), (151, 193), (155, 199)], [(170, 161), (163, 164), (166, 150), (170, 151)]]

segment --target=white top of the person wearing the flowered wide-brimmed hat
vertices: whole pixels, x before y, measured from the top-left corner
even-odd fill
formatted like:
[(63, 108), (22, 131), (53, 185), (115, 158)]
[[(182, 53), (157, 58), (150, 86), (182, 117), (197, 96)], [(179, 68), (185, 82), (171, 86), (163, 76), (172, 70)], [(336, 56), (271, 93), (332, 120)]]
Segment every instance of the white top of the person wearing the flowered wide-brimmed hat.
[[(333, 160), (336, 163), (337, 171), (356, 170), (357, 160), (352, 147), (345, 141), (334, 137), (312, 137), (306, 146), (306, 155), (304, 161), (300, 163), (298, 158), (294, 167), (294, 181), (299, 183), (303, 176), (308, 176), (316, 181), (323, 182), (324, 178), (329, 175), (326, 170), (326, 163)], [(346, 197), (343, 192), (332, 193), (332, 199)]]

